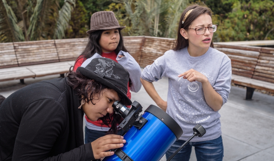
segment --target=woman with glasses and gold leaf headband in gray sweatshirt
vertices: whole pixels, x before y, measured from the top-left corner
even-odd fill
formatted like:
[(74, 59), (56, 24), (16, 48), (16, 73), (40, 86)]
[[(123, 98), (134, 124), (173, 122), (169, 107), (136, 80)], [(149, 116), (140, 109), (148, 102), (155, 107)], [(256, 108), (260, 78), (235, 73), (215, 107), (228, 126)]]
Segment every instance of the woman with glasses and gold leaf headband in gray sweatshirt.
[[(220, 114), (230, 93), (231, 63), (226, 54), (214, 49), (212, 37), (218, 25), (209, 8), (187, 7), (181, 15), (176, 47), (148, 65), (141, 82), (149, 96), (181, 126), (184, 134), (166, 153), (172, 155), (200, 124), (206, 129), (202, 138), (193, 138), (173, 161), (190, 159), (195, 146), (197, 160), (223, 159)], [(168, 77), (167, 101), (163, 101), (152, 82)]]

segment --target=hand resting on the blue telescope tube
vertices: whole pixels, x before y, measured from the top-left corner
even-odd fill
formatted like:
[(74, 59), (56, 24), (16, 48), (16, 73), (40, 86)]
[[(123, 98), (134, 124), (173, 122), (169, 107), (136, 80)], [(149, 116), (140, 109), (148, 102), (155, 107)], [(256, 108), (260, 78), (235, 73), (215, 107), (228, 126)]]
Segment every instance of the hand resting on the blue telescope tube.
[(95, 159), (104, 158), (106, 156), (112, 156), (114, 152), (110, 152), (111, 149), (121, 148), (124, 146), (126, 140), (120, 135), (105, 135), (91, 142), (93, 150), (93, 156)]

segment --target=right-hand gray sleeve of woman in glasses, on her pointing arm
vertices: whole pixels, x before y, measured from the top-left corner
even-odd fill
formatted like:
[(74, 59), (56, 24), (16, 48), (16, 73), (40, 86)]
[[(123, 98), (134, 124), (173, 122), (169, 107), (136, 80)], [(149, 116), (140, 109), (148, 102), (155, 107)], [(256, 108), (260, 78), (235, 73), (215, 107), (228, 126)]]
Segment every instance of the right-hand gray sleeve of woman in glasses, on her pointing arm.
[(213, 85), (214, 90), (223, 98), (223, 104), (227, 102), (231, 85), (231, 60), (226, 56), (221, 64), (218, 77)]

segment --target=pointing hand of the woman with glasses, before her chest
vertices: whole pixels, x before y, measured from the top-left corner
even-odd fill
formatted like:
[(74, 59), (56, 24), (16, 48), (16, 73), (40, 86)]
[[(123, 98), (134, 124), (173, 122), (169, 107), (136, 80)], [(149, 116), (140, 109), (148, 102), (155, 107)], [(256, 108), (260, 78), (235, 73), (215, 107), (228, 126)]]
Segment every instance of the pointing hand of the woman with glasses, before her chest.
[(190, 82), (197, 80), (198, 82), (205, 83), (208, 81), (206, 76), (204, 76), (202, 73), (200, 73), (194, 69), (190, 69), (190, 70), (178, 75), (178, 77), (182, 77), (182, 76), (184, 79), (187, 79)]

